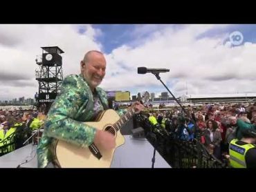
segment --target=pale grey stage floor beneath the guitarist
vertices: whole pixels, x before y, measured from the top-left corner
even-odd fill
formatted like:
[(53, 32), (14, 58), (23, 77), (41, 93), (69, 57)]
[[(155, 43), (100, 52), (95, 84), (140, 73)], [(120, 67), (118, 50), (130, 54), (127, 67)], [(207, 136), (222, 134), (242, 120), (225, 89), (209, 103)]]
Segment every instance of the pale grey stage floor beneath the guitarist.
[[(116, 148), (111, 168), (151, 168), (154, 147), (144, 138), (124, 135), (125, 144)], [(28, 144), (0, 157), (0, 168), (37, 168), (37, 153), (33, 144)], [(171, 168), (156, 151), (154, 168)]]

